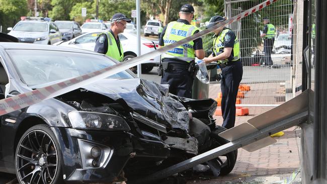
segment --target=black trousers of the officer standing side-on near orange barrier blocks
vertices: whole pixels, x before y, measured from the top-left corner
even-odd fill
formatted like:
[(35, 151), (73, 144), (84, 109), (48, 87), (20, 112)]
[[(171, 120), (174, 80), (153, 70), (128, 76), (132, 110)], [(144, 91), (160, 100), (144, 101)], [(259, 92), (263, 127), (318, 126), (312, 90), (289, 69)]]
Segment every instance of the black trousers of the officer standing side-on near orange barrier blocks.
[(243, 75), (242, 63), (240, 61), (231, 61), (227, 66), (221, 68), (221, 73), (223, 75), (220, 82), (222, 94), (222, 126), (230, 129), (235, 125), (235, 104), (239, 82), (241, 81)]

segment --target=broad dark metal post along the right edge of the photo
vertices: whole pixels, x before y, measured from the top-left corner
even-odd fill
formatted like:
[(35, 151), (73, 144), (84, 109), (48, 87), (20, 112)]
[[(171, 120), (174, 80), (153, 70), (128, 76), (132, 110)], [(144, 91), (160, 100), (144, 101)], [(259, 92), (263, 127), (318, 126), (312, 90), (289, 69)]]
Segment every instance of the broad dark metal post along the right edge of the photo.
[(314, 137), (313, 137), (313, 182), (326, 183), (326, 110), (327, 103), (327, 59), (326, 45), (327, 25), (325, 18), (327, 16), (327, 1), (316, 1), (316, 47), (314, 60), (316, 64), (315, 69), (315, 84), (314, 84)]

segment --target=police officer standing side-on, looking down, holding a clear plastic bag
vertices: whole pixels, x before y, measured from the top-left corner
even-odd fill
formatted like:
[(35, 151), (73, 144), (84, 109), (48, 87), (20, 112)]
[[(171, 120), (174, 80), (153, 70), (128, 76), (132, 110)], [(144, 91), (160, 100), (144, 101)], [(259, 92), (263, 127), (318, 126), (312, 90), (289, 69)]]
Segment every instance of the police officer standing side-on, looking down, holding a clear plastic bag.
[[(213, 16), (207, 28), (225, 21), (221, 16)], [(203, 58), (206, 63), (217, 61), (221, 68), (221, 112), (222, 126), (230, 129), (235, 124), (236, 96), (239, 82), (242, 79), (243, 68), (239, 57), (239, 43), (233, 31), (226, 27), (220, 27), (214, 31), (213, 53)]]

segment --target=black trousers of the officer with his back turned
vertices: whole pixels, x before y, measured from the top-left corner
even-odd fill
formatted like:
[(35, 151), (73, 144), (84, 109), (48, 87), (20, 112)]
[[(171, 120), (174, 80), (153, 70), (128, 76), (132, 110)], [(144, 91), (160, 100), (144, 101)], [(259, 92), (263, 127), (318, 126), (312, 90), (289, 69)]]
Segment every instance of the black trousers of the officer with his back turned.
[[(169, 62), (169, 61), (163, 61)], [(179, 97), (192, 98), (193, 76), (185, 61), (169, 62), (169, 68), (163, 71), (161, 84), (169, 84), (169, 92)]]

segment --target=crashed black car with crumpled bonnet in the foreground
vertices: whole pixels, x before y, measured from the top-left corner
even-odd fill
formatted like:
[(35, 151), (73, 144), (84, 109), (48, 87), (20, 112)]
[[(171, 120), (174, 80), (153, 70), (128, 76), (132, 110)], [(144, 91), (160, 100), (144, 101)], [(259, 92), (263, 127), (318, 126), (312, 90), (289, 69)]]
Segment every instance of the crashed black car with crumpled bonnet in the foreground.
[[(24, 43), (0, 43), (0, 58), (0, 99), (116, 64), (91, 51)], [(1, 116), (0, 171), (19, 183), (133, 182), (228, 143), (212, 118), (216, 107), (121, 71)], [(225, 175), (236, 156), (205, 164)]]

